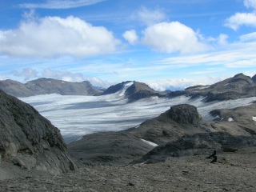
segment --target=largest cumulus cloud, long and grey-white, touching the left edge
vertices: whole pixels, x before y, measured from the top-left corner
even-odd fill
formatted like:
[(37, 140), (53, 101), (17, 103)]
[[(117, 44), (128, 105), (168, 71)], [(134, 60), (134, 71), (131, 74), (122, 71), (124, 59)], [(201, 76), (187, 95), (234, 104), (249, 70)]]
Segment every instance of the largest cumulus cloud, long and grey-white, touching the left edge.
[(16, 30), (0, 30), (0, 53), (16, 56), (86, 57), (113, 53), (118, 45), (120, 41), (105, 27), (73, 16), (29, 19)]

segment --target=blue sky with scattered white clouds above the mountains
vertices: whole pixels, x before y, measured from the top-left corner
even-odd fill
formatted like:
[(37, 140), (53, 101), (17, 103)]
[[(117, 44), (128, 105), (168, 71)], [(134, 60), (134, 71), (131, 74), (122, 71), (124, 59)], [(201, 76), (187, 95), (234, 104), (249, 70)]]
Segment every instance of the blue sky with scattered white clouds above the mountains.
[(0, 2), (0, 80), (154, 90), (256, 74), (256, 0)]

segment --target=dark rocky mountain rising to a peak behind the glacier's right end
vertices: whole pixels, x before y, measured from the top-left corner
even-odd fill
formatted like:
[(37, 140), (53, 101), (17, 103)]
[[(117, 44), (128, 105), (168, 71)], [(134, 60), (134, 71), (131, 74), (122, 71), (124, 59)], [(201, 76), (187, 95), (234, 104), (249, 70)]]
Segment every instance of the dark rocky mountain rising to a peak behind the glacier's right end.
[(227, 78), (211, 86), (191, 86), (184, 91), (171, 92), (168, 96), (175, 97), (182, 94), (192, 98), (205, 97), (205, 102), (249, 98), (256, 96), (256, 83), (255, 78), (237, 74), (233, 78)]

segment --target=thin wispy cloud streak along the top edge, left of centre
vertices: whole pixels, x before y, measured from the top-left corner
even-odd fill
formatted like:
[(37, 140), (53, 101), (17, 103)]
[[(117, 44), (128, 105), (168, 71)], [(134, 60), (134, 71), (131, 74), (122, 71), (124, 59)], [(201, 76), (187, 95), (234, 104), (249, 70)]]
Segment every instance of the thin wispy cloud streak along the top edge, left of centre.
[(45, 3), (23, 3), (22, 8), (28, 9), (70, 9), (80, 6), (90, 6), (105, 0), (48, 0)]

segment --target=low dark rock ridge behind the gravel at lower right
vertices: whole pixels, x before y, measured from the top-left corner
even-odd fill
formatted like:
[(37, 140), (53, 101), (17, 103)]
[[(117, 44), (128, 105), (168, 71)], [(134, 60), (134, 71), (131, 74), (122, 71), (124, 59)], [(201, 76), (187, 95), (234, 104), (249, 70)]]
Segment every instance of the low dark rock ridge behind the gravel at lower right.
[(241, 147), (256, 146), (256, 136), (234, 136), (225, 132), (194, 134), (157, 146), (134, 163), (164, 162), (169, 157), (207, 154), (209, 151), (236, 151)]

